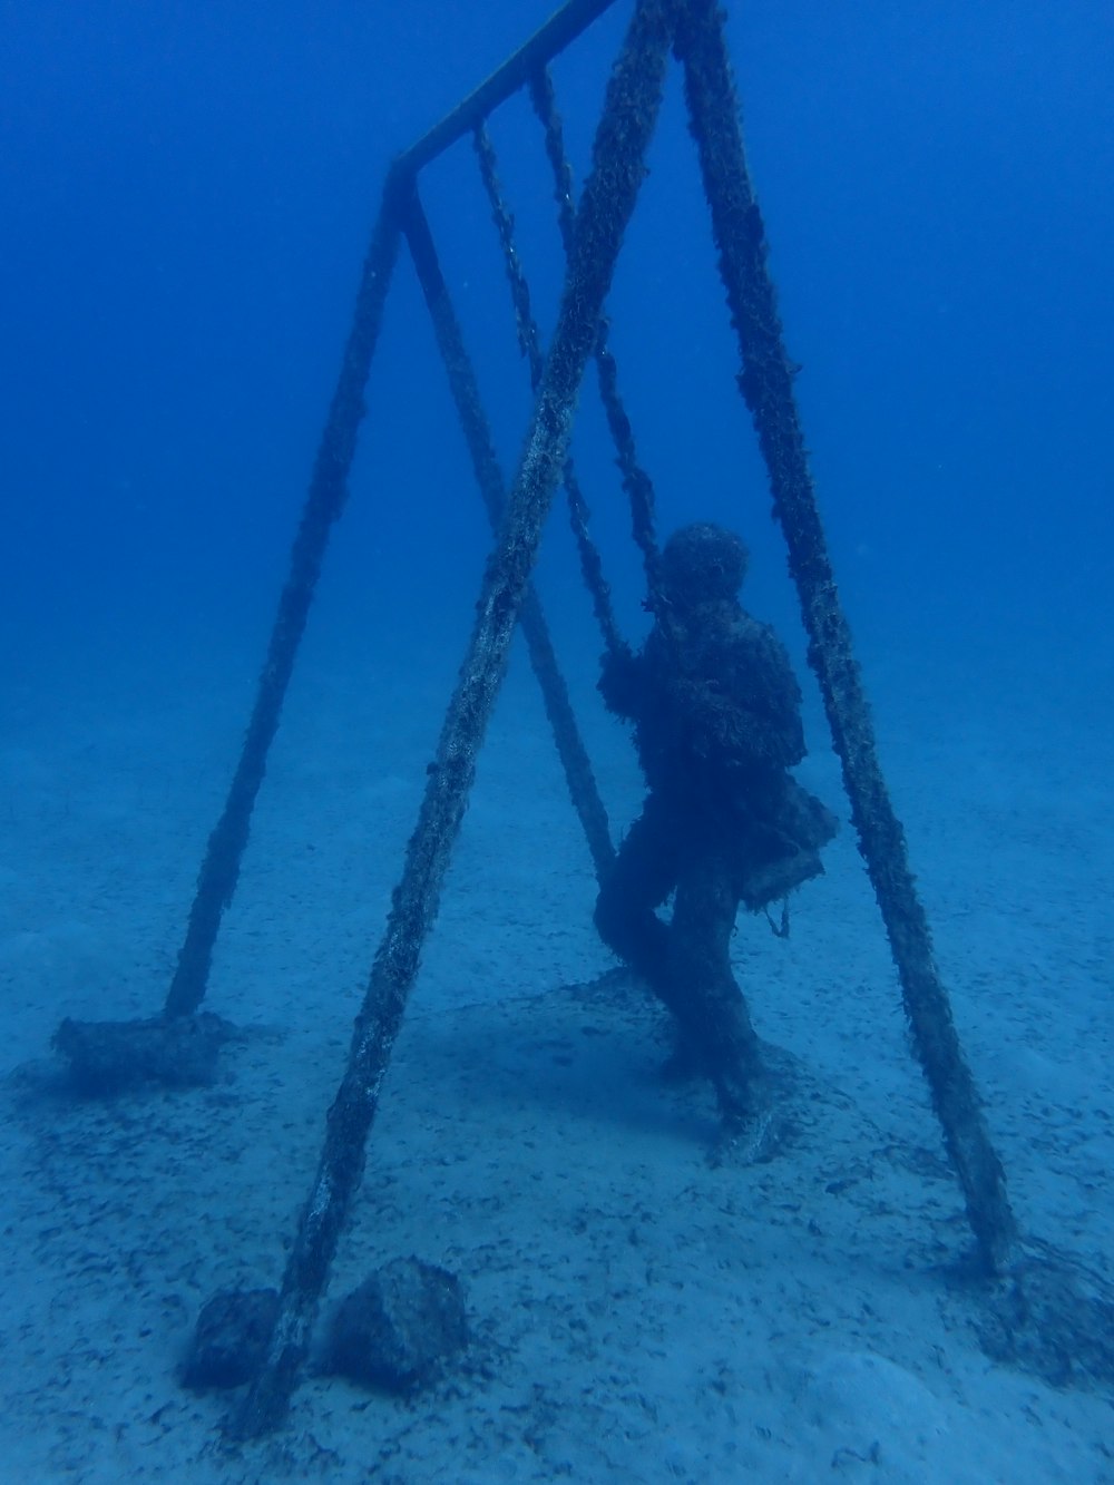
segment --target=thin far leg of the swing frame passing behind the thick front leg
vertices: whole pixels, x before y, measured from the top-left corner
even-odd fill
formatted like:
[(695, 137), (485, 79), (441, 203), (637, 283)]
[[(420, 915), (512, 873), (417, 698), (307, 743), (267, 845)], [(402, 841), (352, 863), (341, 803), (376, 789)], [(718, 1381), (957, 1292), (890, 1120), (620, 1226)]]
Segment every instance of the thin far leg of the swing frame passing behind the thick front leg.
[[(429, 309), (429, 318), (434, 322), (441, 359), (449, 373), (449, 388), (456, 404), (465, 441), (468, 443), (472, 469), (480, 484), (487, 515), (493, 529), (498, 530), (506, 503), (499, 462), (495, 456), (492, 431), (480, 401), (480, 385), (465, 349), (460, 325), (449, 297), (449, 287), (437, 261), (434, 239), (417, 190), (410, 193), (403, 208), (403, 230), (410, 245), (410, 255), (414, 260), (414, 269)], [(569, 478), (567, 460), (564, 478), (566, 481)], [(610, 830), (608, 827), (608, 812), (600, 799), (588, 750), (584, 745), (584, 738), (572, 710), (572, 701), (569, 699), (569, 688), (557, 664), (550, 627), (545, 622), (545, 613), (542, 612), (542, 604), (533, 584), (526, 590), (520, 618), (530, 665), (542, 691), (545, 716), (550, 720), (554, 742), (557, 744), (557, 754), (564, 769), (569, 797), (584, 829), (596, 875), (603, 878), (615, 860)]]

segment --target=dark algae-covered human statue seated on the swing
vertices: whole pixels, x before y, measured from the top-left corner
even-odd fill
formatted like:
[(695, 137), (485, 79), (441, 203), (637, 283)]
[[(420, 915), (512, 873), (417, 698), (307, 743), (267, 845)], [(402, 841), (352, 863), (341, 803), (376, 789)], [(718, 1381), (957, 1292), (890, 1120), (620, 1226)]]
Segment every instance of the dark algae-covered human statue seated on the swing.
[[(634, 722), (649, 793), (596, 927), (673, 1013), (679, 1056), (711, 1080), (717, 1152), (760, 1158), (772, 1097), (731, 936), (740, 904), (760, 912), (823, 872), (836, 821), (790, 774), (805, 756), (801, 688), (774, 630), (740, 603), (746, 570), (732, 532), (682, 527), (661, 554), (646, 643), (605, 656), (599, 689)], [(665, 921), (657, 909), (670, 892)]]

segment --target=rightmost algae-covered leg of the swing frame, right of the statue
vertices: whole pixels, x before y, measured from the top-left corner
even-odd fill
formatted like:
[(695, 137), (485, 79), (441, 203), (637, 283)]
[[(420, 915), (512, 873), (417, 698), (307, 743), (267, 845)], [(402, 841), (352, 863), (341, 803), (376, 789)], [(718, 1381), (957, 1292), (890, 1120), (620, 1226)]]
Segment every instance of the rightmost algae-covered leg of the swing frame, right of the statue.
[(967, 1215), (986, 1265), (1003, 1273), (1017, 1252), (1017, 1230), (1001, 1161), (991, 1145), (974, 1080), (962, 1056), (948, 992), (916, 895), (905, 832), (882, 778), (873, 725), (851, 636), (827, 557), (812, 477), (793, 398), (766, 244), (747, 172), (738, 104), (714, 0), (689, 0), (677, 30), (689, 120), (719, 249), (719, 270), (743, 356), (740, 389), (755, 419), (774, 492), (774, 514), (789, 546), (808, 631), (808, 658), (844, 766), (859, 849), (882, 910), (902, 980), (916, 1054)]

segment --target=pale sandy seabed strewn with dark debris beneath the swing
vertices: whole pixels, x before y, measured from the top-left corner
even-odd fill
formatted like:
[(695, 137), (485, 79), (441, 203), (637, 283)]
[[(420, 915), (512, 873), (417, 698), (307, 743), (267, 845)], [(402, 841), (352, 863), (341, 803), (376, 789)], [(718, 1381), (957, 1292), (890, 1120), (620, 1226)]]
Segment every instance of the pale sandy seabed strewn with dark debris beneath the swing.
[[(251, 698), (250, 661), (215, 670), (113, 655), (13, 682), (0, 1479), (1114, 1481), (1110, 1396), (979, 1348), (970, 1233), (850, 829), (787, 940), (740, 919), (795, 1135), (711, 1169), (710, 1097), (662, 1083), (661, 1017), (594, 940), (520, 658), (331, 1285), (443, 1264), (472, 1345), (403, 1400), (307, 1375), (279, 1436), (226, 1446), (235, 1397), (184, 1391), (178, 1366), (208, 1295), (281, 1279), (452, 665), (296, 682), (208, 999), (244, 1040), (212, 1087), (82, 1102), (51, 1035), (159, 1008)], [(1017, 1215), (1110, 1274), (1110, 676), (891, 655), (867, 682)], [(621, 826), (630, 744), (581, 710)], [(802, 777), (842, 808), (815, 717), (811, 737)]]

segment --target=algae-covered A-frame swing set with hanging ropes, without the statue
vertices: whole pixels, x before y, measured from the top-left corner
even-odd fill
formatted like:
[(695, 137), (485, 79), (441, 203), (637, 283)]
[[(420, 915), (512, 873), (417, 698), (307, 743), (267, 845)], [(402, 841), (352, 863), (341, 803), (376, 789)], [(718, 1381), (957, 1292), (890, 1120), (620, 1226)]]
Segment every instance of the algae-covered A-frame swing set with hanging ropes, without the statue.
[[(545, 616), (530, 582), (545, 518), (564, 484), (585, 584), (605, 644), (622, 644), (599, 554), (587, 529), (587, 506), (569, 456), (575, 405), (594, 359), (633, 533), (642, 549), (651, 595), (658, 584), (654, 489), (640, 468), (608, 347), (605, 306), (624, 233), (645, 175), (670, 53), (683, 71), (689, 131), (698, 153), (717, 264), (741, 358), (738, 388), (750, 411), (769, 475), (774, 517), (786, 541), (808, 636), (808, 662), (820, 686), (859, 849), (881, 909), (912, 1044), (928, 1081), (946, 1152), (974, 1234), (980, 1298), (995, 1314), (1006, 1353), (1046, 1377), (1114, 1378), (1114, 1304), (1104, 1282), (1019, 1231), (1001, 1161), (991, 1143), (979, 1094), (955, 1031), (948, 992), (933, 956), (928, 921), (918, 898), (897, 820), (882, 777), (873, 725), (851, 636), (841, 609), (817, 511), (786, 355), (766, 241), (750, 181), (723, 18), (716, 0), (634, 0), (613, 64), (593, 147), (593, 168), (579, 206), (564, 156), (561, 123), (548, 64), (616, 0), (569, 0), (520, 50), (391, 166), (340, 376), (293, 544), (255, 702), (221, 817), (209, 836), (189, 927), (162, 1016), (138, 1023), (64, 1022), (56, 1035), (71, 1072), (86, 1086), (111, 1086), (138, 1068), (163, 1081), (195, 1081), (230, 1035), (220, 1017), (201, 1011), (214, 943), (235, 894), (251, 814), (278, 731), (299, 643), (307, 621), (333, 524), (348, 496), (348, 477), (364, 416), (364, 388), (379, 340), (383, 306), (405, 239), (449, 374), (474, 472), (495, 530), (477, 616), (456, 689), (449, 702), (419, 818), (392, 895), (355, 1020), (348, 1066), (328, 1111), (318, 1170), (293, 1241), (278, 1314), (232, 1432), (248, 1439), (278, 1427), (309, 1351), (309, 1335), (352, 1197), (359, 1185), (367, 1138), (392, 1047), (413, 989), (420, 950), (434, 922), (453, 843), (465, 814), (475, 762), (502, 683), (508, 650), (521, 624), (530, 664), (542, 688), (572, 803), (599, 876), (612, 842), (587, 751), (581, 741)], [(489, 116), (520, 91), (529, 92), (554, 178), (566, 278), (548, 353), (530, 309), (514, 242), (514, 224), (498, 181)], [(472, 135), (511, 287), (520, 347), (527, 358), (535, 405), (509, 493), (495, 454), (478, 385), (449, 287), (419, 198), (422, 169)]]

